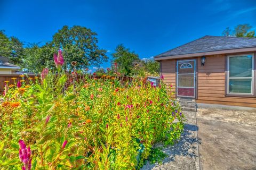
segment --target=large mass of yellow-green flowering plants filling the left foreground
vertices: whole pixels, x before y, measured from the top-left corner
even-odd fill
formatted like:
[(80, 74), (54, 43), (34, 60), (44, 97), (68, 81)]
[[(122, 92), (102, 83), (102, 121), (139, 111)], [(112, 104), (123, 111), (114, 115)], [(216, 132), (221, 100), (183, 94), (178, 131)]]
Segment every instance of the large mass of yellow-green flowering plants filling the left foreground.
[(134, 169), (154, 143), (172, 145), (180, 138), (185, 117), (164, 83), (85, 77), (66, 88), (68, 76), (56, 65), (58, 73), (43, 71), (42, 83), (6, 84), (0, 167)]

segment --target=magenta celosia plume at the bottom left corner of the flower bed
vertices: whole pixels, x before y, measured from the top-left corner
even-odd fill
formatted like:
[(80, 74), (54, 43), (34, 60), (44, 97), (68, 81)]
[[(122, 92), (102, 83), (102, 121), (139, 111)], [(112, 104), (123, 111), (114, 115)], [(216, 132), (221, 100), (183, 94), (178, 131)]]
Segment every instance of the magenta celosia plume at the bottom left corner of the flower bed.
[(30, 147), (27, 148), (25, 143), (20, 140), (19, 141), (20, 149), (19, 149), (19, 157), (24, 166), (22, 169), (30, 170), (31, 169), (31, 150)]

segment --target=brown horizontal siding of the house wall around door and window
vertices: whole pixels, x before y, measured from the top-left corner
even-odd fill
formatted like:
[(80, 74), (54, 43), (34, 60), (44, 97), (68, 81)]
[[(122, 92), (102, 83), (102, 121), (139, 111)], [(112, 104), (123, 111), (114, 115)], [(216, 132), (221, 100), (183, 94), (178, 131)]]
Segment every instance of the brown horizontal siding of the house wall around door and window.
[[(256, 97), (225, 96), (225, 55), (206, 56), (204, 66), (197, 57), (197, 103), (256, 107)], [(163, 60), (162, 74), (168, 86), (175, 87), (176, 61)], [(175, 88), (171, 89), (175, 92)]]

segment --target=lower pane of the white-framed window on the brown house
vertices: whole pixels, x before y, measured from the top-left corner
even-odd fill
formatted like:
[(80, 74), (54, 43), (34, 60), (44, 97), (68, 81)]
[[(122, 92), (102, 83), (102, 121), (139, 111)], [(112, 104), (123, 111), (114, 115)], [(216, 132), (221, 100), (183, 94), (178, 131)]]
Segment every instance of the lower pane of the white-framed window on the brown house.
[(229, 92), (251, 94), (252, 79), (229, 79)]

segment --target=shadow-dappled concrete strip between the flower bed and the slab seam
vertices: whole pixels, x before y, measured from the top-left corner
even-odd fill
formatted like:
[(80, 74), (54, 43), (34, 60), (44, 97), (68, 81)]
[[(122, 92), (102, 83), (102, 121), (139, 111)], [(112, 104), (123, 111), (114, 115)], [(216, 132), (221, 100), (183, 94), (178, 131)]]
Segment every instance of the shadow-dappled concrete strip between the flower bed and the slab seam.
[(174, 146), (166, 147), (163, 151), (168, 155), (162, 165), (149, 164), (146, 169), (199, 169), (197, 125), (195, 112), (185, 112), (187, 118), (181, 140)]

